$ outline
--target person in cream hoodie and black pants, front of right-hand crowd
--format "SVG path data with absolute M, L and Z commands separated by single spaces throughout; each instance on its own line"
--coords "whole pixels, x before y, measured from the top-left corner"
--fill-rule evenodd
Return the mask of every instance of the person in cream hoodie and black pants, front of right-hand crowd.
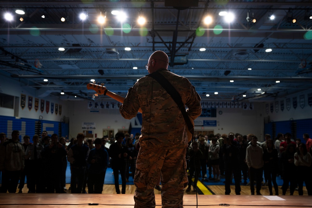
M 253 136 L 251 138 L 251 145 L 246 150 L 246 163 L 249 168 L 250 192 L 255 195 L 254 181 L 256 179 L 256 194 L 261 195 L 261 182 L 263 175 L 263 150 L 257 144 L 258 138 Z

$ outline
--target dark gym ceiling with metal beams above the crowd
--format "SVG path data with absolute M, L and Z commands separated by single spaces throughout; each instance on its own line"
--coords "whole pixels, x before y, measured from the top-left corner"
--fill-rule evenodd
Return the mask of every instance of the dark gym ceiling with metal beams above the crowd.
M 305 17 L 312 13 L 310 0 L 211 0 L 189 8 L 157 0 L 0 2 L 0 76 L 37 89 L 38 97 L 90 99 L 90 79 L 126 96 L 147 74 L 144 65 L 156 50 L 168 54 L 168 69 L 187 77 L 202 99 L 267 101 L 312 87 L 312 19 Z M 117 22 L 112 10 L 123 10 L 126 21 Z M 12 22 L 3 19 L 7 11 L 15 15 Z M 78 18 L 83 11 L 85 21 Z M 234 21 L 226 23 L 220 11 L 234 13 Z M 100 13 L 106 13 L 103 25 L 96 21 Z M 147 18 L 143 27 L 136 23 L 139 13 Z M 247 13 L 256 23 L 247 22 Z M 297 22 L 290 23 L 287 13 Z M 203 23 L 206 14 L 213 17 L 210 25 Z

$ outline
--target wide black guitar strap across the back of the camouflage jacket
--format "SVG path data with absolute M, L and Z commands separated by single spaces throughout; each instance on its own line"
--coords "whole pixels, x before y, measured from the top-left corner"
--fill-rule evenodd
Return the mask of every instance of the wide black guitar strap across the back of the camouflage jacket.
M 172 84 L 158 71 L 153 72 L 151 74 L 147 74 L 146 76 L 150 76 L 153 79 L 155 79 L 167 91 L 167 93 L 171 96 L 171 98 L 176 102 L 179 109 L 181 110 L 187 128 L 192 134 L 193 137 L 192 139 L 194 139 L 194 126 L 191 123 L 190 117 L 186 113 L 185 104 L 183 104 L 181 95 L 178 93 L 178 91 L 176 91 L 176 89 L 172 86 Z

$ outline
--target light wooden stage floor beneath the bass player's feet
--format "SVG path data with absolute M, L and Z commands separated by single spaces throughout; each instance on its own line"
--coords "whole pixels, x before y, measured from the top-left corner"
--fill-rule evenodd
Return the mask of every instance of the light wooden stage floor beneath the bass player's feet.
M 262 195 L 198 195 L 198 207 L 214 208 L 227 204 L 230 207 L 311 207 L 310 196 L 273 196 L 280 200 L 269 200 Z M 88 203 L 98 203 L 97 207 L 132 208 L 133 194 L 0 194 L 2 208 L 35 207 L 90 207 Z M 184 195 L 184 208 L 196 207 L 196 195 Z M 156 208 L 161 208 L 161 195 L 156 195 Z

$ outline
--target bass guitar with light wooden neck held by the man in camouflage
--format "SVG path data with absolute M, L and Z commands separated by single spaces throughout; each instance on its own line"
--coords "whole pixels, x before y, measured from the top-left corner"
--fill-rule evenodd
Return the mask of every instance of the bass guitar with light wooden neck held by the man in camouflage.
M 98 96 L 99 94 L 104 94 L 104 95 L 107 95 L 109 97 L 111 97 L 112 99 L 115 99 L 116 101 L 118 102 L 121 102 L 123 103 L 123 101 L 125 100 L 123 97 L 121 97 L 120 95 L 117 95 L 109 90 L 106 89 L 106 87 L 104 86 L 104 84 L 102 83 L 101 85 L 99 84 L 95 84 L 95 82 L 93 83 L 89 83 L 87 84 L 87 89 L 93 89 L 94 91 L 96 91 L 97 93 L 94 94 L 95 96 Z M 142 110 L 141 108 L 138 110 L 138 112 L 142 113 Z M 191 118 L 190 118 L 191 119 Z M 193 124 L 194 126 L 194 121 L 193 119 L 191 119 L 191 123 Z M 189 131 L 189 129 L 187 128 L 187 126 L 185 126 L 186 128 L 186 131 L 187 131 L 187 140 L 188 142 L 191 141 L 193 135 L 192 133 Z

